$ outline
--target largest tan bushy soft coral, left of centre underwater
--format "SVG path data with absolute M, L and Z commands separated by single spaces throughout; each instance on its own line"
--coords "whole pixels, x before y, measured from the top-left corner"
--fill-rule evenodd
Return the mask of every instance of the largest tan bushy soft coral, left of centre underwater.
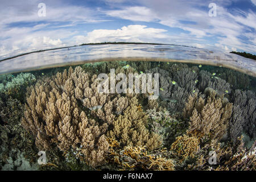
M 69 73 L 57 73 L 48 83 L 38 82 L 30 88 L 22 125 L 32 131 L 39 149 L 49 150 L 57 146 L 61 151 L 77 147 L 91 166 L 104 162 L 108 142 L 104 133 L 107 123 L 89 119 L 74 97 L 75 86 L 81 81 L 86 85 L 89 75 L 69 69 Z M 87 80 L 83 80 L 86 78 Z M 65 80 L 66 79 L 66 80 Z M 88 85 L 89 86 L 89 85 Z

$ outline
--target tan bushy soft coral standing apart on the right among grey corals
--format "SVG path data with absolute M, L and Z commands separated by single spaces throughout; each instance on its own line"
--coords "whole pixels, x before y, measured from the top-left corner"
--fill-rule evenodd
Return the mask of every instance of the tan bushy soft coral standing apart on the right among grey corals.
M 183 117 L 189 118 L 187 134 L 197 137 L 220 139 L 226 132 L 233 104 L 224 103 L 222 97 L 216 98 L 212 93 L 207 101 L 197 97 L 197 93 L 189 96 Z

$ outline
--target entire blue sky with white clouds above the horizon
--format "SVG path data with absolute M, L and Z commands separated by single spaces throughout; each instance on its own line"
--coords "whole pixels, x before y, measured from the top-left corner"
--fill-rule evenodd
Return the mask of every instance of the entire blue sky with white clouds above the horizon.
M 100 42 L 256 54 L 256 0 L 1 0 L 0 17 L 0 59 Z

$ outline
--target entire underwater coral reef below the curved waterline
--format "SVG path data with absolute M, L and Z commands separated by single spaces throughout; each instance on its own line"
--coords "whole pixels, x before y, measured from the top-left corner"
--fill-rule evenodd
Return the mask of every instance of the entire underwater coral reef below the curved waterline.
M 110 61 L 1 75 L 0 168 L 255 170 L 255 109 L 255 78 L 222 67 Z

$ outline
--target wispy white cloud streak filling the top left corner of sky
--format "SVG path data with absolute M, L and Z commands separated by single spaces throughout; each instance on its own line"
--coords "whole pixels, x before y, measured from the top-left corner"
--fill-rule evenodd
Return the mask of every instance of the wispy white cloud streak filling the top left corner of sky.
M 6 5 L 4 5 L 6 4 Z M 0 7 L 0 24 L 15 22 L 99 22 L 99 12 L 89 7 L 68 5 L 61 1 L 46 1 L 46 16 L 38 16 L 39 1 L 2 3 Z M 7 7 L 7 8 L 6 8 Z

